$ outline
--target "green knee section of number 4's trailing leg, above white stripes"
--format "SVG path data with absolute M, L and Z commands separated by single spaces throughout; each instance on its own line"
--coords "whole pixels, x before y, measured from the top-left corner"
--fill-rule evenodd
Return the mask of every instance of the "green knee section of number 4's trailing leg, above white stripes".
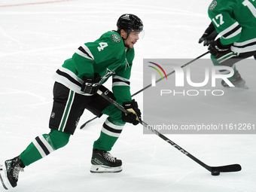
M 68 144 L 71 135 L 58 130 L 51 130 L 49 134 L 44 134 L 43 136 L 53 149 L 57 150 Z

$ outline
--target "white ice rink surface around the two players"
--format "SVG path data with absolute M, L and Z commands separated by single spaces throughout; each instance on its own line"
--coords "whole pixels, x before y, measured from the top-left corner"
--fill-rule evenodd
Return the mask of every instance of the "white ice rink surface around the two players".
M 31 5 L 32 2 L 47 3 Z M 143 87 L 143 58 L 194 59 L 206 52 L 206 47 L 197 41 L 209 25 L 210 2 L 0 0 L 0 162 L 20 154 L 35 136 L 49 132 L 51 76 L 82 43 L 116 29 L 121 14 L 133 13 L 141 17 L 145 38 L 136 44 L 131 80 L 131 91 L 135 93 Z M 19 4 L 27 5 L 6 6 Z M 237 68 L 250 89 L 230 90 L 227 98 L 221 99 L 223 108 L 216 112 L 226 113 L 225 105 L 233 112 L 237 108 L 246 111 L 249 106 L 254 119 L 256 67 L 237 64 Z M 142 108 L 142 93 L 135 99 Z M 182 102 L 182 99 L 170 102 L 169 108 L 175 108 L 170 120 L 190 118 L 191 111 L 184 109 L 187 105 L 177 107 Z M 187 103 L 190 108 L 198 108 L 202 102 L 193 98 Z M 208 107 L 211 110 L 214 105 Z M 194 122 L 204 118 L 203 115 L 207 117 L 207 113 L 200 113 L 194 117 Z M 78 126 L 91 117 L 92 114 L 85 112 Z M 123 160 L 123 172 L 91 174 L 92 145 L 104 120 L 105 117 L 94 120 L 84 130 L 78 128 L 69 145 L 26 167 L 25 172 L 20 173 L 18 186 L 11 191 L 256 190 L 255 135 L 167 135 L 210 166 L 233 163 L 242 166 L 241 172 L 214 177 L 159 137 L 142 134 L 142 126 L 126 125 L 111 151 Z M 5 190 L 0 186 L 0 191 Z

